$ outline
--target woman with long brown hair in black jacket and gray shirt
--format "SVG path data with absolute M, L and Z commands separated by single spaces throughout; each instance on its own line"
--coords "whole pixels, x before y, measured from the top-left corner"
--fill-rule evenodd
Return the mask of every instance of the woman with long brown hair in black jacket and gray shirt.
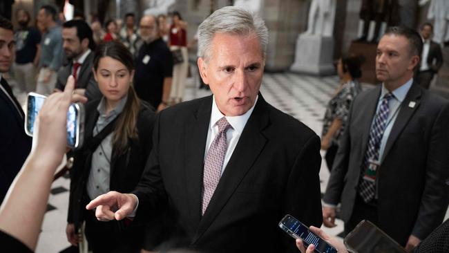
M 142 225 L 131 220 L 100 222 L 85 207 L 110 190 L 128 192 L 137 185 L 151 151 L 155 113 L 135 94 L 133 56 L 120 42 L 97 46 L 93 72 L 103 97 L 85 107 L 84 145 L 75 151 L 70 170 L 67 238 L 76 245 L 77 229 L 85 222 L 93 252 L 140 252 Z

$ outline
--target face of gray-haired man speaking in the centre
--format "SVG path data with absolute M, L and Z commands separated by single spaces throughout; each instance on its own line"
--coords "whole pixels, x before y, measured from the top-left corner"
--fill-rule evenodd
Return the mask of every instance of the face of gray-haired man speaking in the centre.
M 211 41 L 209 59 L 199 62 L 204 83 L 209 84 L 224 115 L 242 115 L 251 109 L 265 64 L 256 35 L 218 33 Z

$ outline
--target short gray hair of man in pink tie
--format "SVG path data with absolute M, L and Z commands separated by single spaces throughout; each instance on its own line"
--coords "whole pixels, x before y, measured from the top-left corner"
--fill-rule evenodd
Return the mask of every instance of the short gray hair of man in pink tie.
M 233 35 L 257 35 L 262 54 L 267 53 L 268 29 L 265 22 L 242 8 L 227 6 L 216 10 L 198 27 L 198 55 L 208 59 L 211 41 L 216 33 Z

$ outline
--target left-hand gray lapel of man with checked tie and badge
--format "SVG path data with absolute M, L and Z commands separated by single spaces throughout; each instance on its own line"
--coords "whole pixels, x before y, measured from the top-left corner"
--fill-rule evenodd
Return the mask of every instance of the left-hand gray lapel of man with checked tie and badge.
M 378 85 L 374 89 L 375 89 L 375 91 L 370 93 L 369 97 L 367 97 L 367 100 L 365 102 L 365 107 L 360 110 L 360 112 L 365 115 L 363 117 L 363 120 L 361 120 L 361 122 L 359 122 L 360 127 L 362 129 L 362 146 L 361 146 L 362 160 L 363 160 L 363 157 L 365 156 L 368 138 L 370 137 L 371 123 L 376 114 L 377 102 L 379 102 L 379 96 L 381 95 L 382 85 Z

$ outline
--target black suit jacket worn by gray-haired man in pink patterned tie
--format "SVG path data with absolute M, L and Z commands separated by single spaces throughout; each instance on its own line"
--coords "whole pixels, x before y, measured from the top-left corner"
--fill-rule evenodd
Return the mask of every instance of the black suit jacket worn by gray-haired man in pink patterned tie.
M 184 247 L 207 252 L 297 252 L 278 227 L 285 214 L 320 226 L 318 136 L 259 95 L 253 113 L 201 215 L 202 174 L 212 96 L 161 111 L 153 151 L 134 194 L 136 220 L 161 200 L 166 223 Z M 151 209 L 151 210 L 149 210 Z

